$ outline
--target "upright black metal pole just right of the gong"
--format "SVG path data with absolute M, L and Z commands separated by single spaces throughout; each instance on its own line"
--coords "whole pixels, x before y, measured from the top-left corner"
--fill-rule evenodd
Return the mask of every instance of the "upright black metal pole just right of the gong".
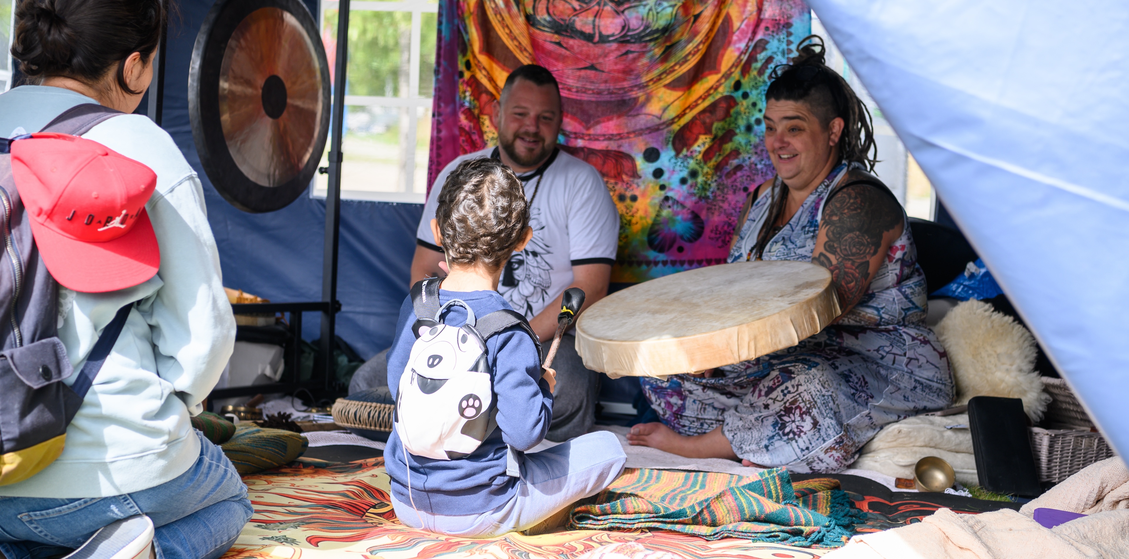
M 341 136 L 345 115 L 345 72 L 349 67 L 349 0 L 338 2 L 338 54 L 333 72 L 333 106 L 330 117 L 330 181 L 325 192 L 325 254 L 322 262 L 322 300 L 329 308 L 322 313 L 322 359 L 325 387 L 336 376 L 333 358 L 334 320 L 338 302 L 338 219 L 341 212 Z

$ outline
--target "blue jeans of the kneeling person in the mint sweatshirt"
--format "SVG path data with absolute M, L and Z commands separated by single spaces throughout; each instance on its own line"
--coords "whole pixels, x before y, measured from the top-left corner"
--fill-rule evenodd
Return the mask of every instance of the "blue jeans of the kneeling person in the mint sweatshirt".
M 116 497 L 0 497 L 0 552 L 42 559 L 70 552 L 98 529 L 138 514 L 157 527 L 157 559 L 215 559 L 251 518 L 247 486 L 200 431 L 200 457 L 173 481 Z

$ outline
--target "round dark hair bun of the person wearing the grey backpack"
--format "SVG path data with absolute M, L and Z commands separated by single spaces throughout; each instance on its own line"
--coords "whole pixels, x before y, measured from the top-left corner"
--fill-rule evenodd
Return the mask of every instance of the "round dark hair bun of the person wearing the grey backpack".
M 58 11 L 55 0 L 24 0 L 16 9 L 11 54 L 28 76 L 53 73 L 70 65 L 79 37 Z

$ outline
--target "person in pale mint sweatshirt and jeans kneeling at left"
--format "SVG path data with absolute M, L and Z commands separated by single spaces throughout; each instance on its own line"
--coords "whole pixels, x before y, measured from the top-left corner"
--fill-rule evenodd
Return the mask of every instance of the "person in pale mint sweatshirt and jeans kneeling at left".
M 8 559 L 218 558 L 251 517 L 235 468 L 189 421 L 235 343 L 203 191 L 173 139 L 129 114 L 152 79 L 166 19 L 163 0 L 23 0 L 16 9 L 11 54 L 37 85 L 0 95 L 0 137 L 37 132 L 82 104 L 125 113 L 84 138 L 156 174 L 145 209 L 160 263 L 125 289 L 60 286 L 59 338 L 76 372 L 117 309 L 137 304 L 67 429 L 62 455 L 0 486 L 0 553 Z M 75 187 L 98 196 L 98 184 Z

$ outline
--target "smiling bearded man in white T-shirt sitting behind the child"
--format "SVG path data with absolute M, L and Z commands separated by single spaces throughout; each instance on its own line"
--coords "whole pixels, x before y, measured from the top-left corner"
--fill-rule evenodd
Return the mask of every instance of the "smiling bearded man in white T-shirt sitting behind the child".
M 525 315 L 548 349 L 566 289 L 584 289 L 584 308 L 607 295 L 620 216 L 595 167 L 557 148 L 561 97 L 549 70 L 536 64 L 514 70 L 492 119 L 498 146 L 456 158 L 436 177 L 415 234 L 418 246 L 410 283 L 446 276 L 443 248 L 431 233 L 431 220 L 447 175 L 466 159 L 500 159 L 525 185 L 533 238 L 505 264 L 498 291 Z M 595 421 L 599 376 L 584 367 L 575 346 L 572 334 L 566 334 L 553 361 L 557 391 L 550 440 L 584 435 Z M 378 355 L 357 372 L 350 393 L 384 384 L 382 357 Z

